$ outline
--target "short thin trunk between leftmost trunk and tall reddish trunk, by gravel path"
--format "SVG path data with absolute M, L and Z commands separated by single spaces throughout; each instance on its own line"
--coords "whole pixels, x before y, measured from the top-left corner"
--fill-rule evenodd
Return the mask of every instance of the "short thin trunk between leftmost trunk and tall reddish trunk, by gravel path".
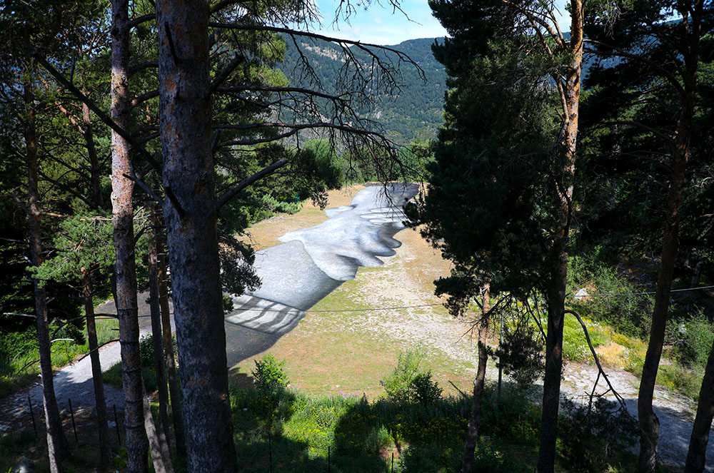
M 106 424 L 106 400 L 104 398 L 104 382 L 102 382 L 101 362 L 99 361 L 99 343 L 96 340 L 96 325 L 94 324 L 94 301 L 92 300 L 91 280 L 89 271 L 82 268 L 82 295 L 84 297 L 84 313 L 87 317 L 87 341 L 89 342 L 89 360 L 91 360 L 91 377 L 94 383 L 94 404 L 96 405 L 96 427 L 99 437 L 99 464 L 106 467 L 111 461 L 109 448 L 109 429 Z

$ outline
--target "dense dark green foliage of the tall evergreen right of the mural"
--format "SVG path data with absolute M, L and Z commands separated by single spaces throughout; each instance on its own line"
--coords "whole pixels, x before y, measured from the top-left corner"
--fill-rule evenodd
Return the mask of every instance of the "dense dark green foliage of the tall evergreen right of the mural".
M 524 299 L 550 287 L 558 253 L 553 90 L 521 56 L 529 48 L 519 41 L 528 39 L 489 41 L 498 19 L 486 6 L 468 16 L 451 2 L 432 6 L 458 37 L 433 48 L 449 74 L 446 123 L 426 196 L 406 208 L 410 226 L 423 225 L 421 234 L 454 263 L 444 293 L 469 300 L 489 282 L 493 295 Z

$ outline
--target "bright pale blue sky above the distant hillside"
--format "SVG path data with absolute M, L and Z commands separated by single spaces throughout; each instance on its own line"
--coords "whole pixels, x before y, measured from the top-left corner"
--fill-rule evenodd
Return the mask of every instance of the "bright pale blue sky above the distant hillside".
M 372 1 L 368 9 L 356 6 L 366 1 L 354 1 L 356 14 L 350 17 L 349 23 L 339 21 L 335 26 L 331 22 L 335 16 L 338 0 L 315 0 L 324 18 L 321 31 L 329 36 L 338 36 L 344 39 L 363 41 L 374 44 L 399 44 L 406 39 L 435 38 L 446 36 L 446 30 L 431 16 L 431 9 L 426 0 L 402 0 L 401 8 L 408 15 L 408 19 L 400 11 L 392 13 L 388 0 L 381 0 L 383 6 Z M 561 6 L 564 0 L 556 0 Z M 562 14 L 569 17 L 565 9 L 560 8 Z M 560 28 L 563 31 L 570 29 L 570 21 L 560 19 Z

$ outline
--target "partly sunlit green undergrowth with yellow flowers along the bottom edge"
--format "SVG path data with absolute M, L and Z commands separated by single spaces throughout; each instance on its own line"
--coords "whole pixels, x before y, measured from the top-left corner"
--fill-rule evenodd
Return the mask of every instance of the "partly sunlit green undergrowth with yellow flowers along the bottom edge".
M 490 397 L 487 397 L 489 402 Z M 271 396 L 254 390 L 231 390 L 233 425 L 241 471 L 388 472 L 392 454 L 398 472 L 454 471 L 461 462 L 470 402 L 446 397 L 431 405 L 368 400 L 361 395 L 313 396 L 288 391 Z M 476 471 L 526 472 L 508 451 L 537 449 L 540 413 L 518 395 L 501 407 L 484 407 L 483 432 Z M 512 422 L 516 416 L 517 422 Z M 488 425 L 486 425 L 488 422 Z M 524 436 L 523 424 L 528 424 Z M 277 469 L 276 469 L 277 471 Z

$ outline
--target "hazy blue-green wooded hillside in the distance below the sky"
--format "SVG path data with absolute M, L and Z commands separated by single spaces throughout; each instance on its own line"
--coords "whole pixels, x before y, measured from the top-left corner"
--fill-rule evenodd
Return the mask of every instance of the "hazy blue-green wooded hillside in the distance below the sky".
M 363 111 L 369 118 L 381 123 L 386 134 L 398 143 L 407 144 L 416 138 L 434 138 L 443 123 L 443 103 L 446 92 L 446 73 L 441 63 L 431 54 L 431 45 L 438 39 L 410 39 L 396 46 L 390 46 L 407 54 L 422 69 L 426 82 L 419 77 L 416 67 L 401 64 L 401 91 L 397 96 L 378 97 L 376 110 Z M 332 92 L 343 63 L 343 51 L 326 41 L 299 39 L 303 54 L 313 64 L 326 91 Z M 296 69 L 298 51 L 292 41 L 286 41 L 286 61 L 281 70 L 294 86 L 309 87 L 307 79 Z M 354 50 L 354 49 L 353 49 Z M 363 51 L 356 56 L 368 61 Z

